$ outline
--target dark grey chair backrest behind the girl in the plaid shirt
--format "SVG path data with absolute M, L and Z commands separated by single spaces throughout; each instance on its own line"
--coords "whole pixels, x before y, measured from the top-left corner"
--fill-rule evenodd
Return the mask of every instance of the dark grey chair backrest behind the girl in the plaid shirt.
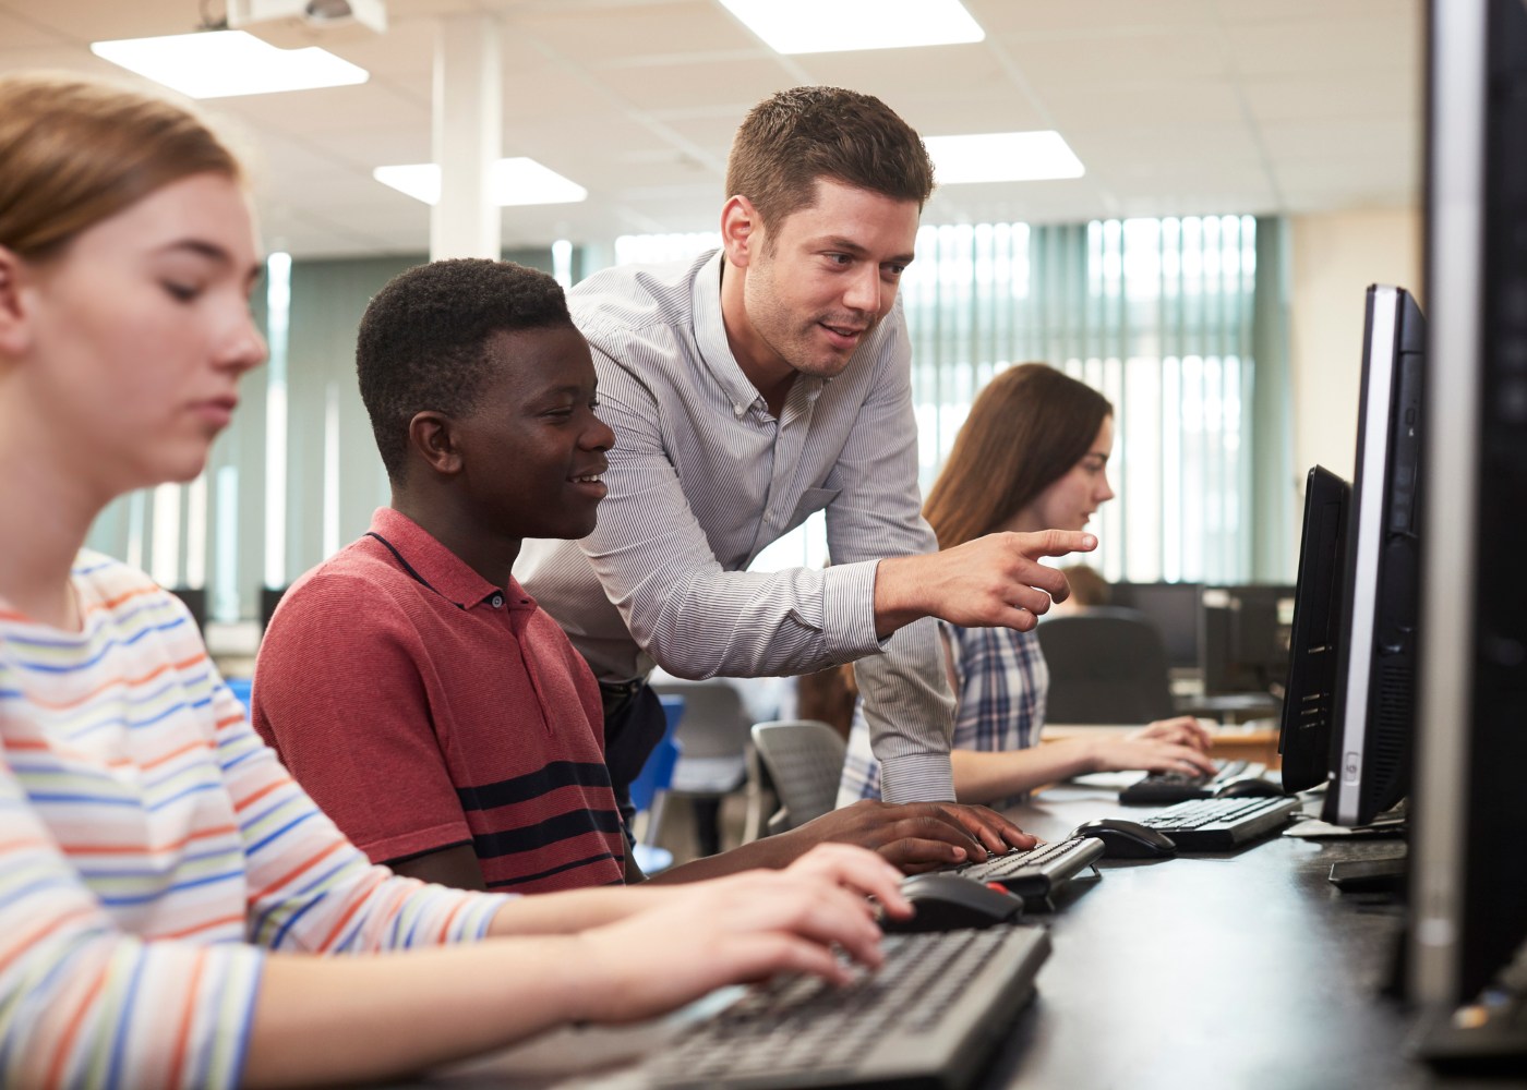
M 1099 606 L 1040 621 L 1052 724 L 1145 724 L 1173 714 L 1167 643 L 1135 609 Z

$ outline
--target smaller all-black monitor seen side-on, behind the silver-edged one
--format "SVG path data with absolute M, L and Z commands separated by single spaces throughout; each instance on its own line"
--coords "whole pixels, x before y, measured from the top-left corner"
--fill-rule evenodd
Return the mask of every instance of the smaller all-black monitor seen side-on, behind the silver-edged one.
M 1325 783 L 1336 713 L 1342 566 L 1351 487 L 1324 466 L 1304 489 L 1299 583 L 1293 597 L 1289 685 L 1283 701 L 1283 786 L 1309 791 Z

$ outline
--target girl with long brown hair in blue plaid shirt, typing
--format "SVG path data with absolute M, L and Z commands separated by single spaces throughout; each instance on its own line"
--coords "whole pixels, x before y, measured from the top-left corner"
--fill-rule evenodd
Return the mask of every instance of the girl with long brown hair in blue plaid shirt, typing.
M 939 548 L 999 531 L 1083 530 L 1113 499 L 1113 406 L 1044 363 L 993 379 L 970 409 L 922 514 Z M 1190 716 L 1128 736 L 1037 747 L 1049 672 L 1034 632 L 941 621 L 956 714 L 950 762 L 960 801 L 1008 806 L 1083 772 L 1150 769 L 1214 774 L 1208 731 Z M 849 731 L 838 805 L 880 797 L 880 765 L 863 714 Z

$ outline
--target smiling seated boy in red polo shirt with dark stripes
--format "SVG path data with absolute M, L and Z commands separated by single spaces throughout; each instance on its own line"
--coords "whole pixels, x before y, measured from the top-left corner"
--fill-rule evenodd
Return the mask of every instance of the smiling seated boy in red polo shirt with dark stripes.
M 356 366 L 392 504 L 282 597 L 255 727 L 397 872 L 510 892 L 640 876 L 599 685 L 510 574 L 522 539 L 586 536 L 605 495 L 614 434 L 562 289 L 512 263 L 418 266 L 371 301 Z M 664 878 L 783 866 L 823 840 L 912 869 L 1032 846 L 980 808 L 860 803 Z

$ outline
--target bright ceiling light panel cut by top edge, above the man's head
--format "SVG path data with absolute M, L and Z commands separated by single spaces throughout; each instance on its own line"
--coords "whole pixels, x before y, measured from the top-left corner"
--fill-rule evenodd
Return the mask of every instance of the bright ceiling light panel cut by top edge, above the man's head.
M 837 53 L 980 41 L 959 0 L 721 0 L 780 53 Z

